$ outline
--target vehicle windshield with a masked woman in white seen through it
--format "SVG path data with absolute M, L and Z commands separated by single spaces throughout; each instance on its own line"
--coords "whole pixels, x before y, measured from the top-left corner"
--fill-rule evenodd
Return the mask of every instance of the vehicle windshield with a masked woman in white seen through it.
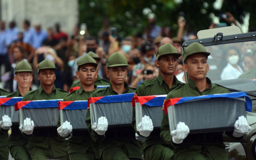
M 255 42 L 249 41 L 205 46 L 207 51 L 211 53 L 207 61 L 209 65 L 207 77 L 212 81 L 238 78 L 247 78 L 255 81 Z

